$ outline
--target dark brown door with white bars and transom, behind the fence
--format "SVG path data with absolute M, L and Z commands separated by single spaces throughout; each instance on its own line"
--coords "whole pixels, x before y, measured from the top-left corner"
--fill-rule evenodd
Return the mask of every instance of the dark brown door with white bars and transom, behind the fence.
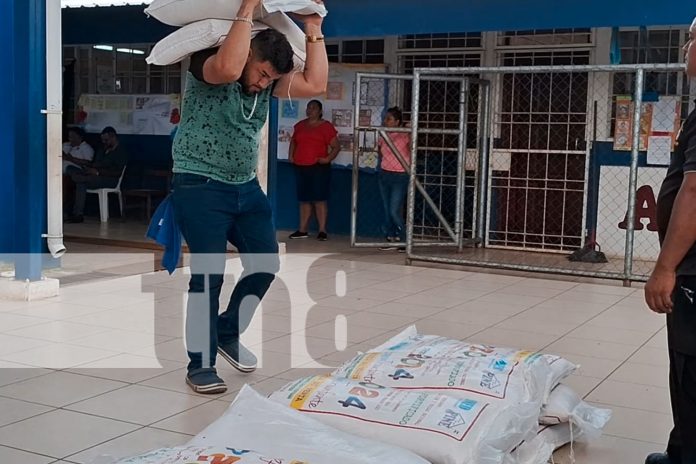
M 516 67 L 587 65 L 590 50 L 503 49 L 500 61 Z M 581 245 L 588 84 L 586 72 L 500 76 L 494 97 L 491 246 L 569 251 Z

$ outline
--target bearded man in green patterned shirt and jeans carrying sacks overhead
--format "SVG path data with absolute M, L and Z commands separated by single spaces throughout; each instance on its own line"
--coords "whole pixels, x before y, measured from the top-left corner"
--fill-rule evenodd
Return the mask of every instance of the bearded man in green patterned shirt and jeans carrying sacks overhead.
M 198 393 L 227 388 L 215 370 L 217 353 L 242 372 L 256 369 L 239 338 L 279 267 L 271 207 L 256 179 L 271 96 L 320 95 L 328 79 L 322 18 L 298 16 L 307 36 L 306 67 L 292 72 L 293 51 L 283 34 L 268 29 L 251 39 L 260 7 L 261 0 L 244 0 L 222 45 L 191 56 L 172 147 L 171 201 L 191 251 L 186 382 Z M 218 316 L 228 241 L 239 250 L 244 273 Z

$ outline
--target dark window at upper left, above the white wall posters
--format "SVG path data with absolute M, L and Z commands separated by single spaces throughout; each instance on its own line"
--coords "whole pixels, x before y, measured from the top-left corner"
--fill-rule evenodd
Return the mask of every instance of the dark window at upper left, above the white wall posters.
M 149 44 L 98 44 L 63 47 L 72 72 L 66 82 L 65 105 L 74 113 L 83 93 L 170 94 L 181 93 L 181 63 L 152 66 L 145 62 Z M 68 119 L 73 120 L 73 119 Z

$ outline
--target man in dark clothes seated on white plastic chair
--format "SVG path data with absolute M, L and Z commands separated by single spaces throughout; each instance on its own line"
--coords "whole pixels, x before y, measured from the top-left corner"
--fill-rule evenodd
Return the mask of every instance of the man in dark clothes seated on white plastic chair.
M 104 148 L 97 152 L 94 162 L 82 170 L 70 173 L 75 183 L 75 205 L 72 215 L 66 221 L 68 223 L 84 222 L 87 190 L 116 187 L 123 168 L 128 162 L 128 153 L 119 143 L 118 135 L 113 127 L 104 128 L 101 140 Z

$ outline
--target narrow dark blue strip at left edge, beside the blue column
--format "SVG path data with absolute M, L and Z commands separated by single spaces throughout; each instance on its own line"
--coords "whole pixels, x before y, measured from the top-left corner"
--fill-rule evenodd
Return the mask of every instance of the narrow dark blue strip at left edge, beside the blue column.
M 7 102 L 0 111 L 0 261 L 14 251 L 14 9 L 12 2 L 0 2 L 0 92 Z

